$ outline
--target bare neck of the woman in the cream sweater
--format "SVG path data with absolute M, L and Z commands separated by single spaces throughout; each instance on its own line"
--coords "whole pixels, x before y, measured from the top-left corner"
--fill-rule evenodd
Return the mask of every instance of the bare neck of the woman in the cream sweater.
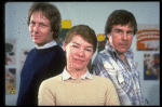
M 79 79 L 81 76 L 83 76 L 86 72 L 86 68 L 84 69 L 75 69 L 67 67 L 67 71 L 71 75 L 72 78 Z

